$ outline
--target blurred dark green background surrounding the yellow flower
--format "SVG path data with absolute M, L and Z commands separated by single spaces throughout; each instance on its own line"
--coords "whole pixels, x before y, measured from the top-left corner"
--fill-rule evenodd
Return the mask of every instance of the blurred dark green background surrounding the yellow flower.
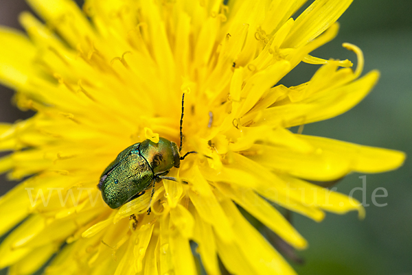
M 23 0 L 0 0 L 0 25 L 19 27 L 17 15 L 29 8 Z M 381 73 L 374 91 L 345 114 L 305 125 L 304 134 L 326 136 L 363 145 L 386 147 L 412 156 L 412 1 L 355 0 L 339 23 L 339 36 L 317 49 L 313 56 L 348 58 L 356 65 L 354 53 L 341 47 L 348 42 L 365 54 L 364 74 L 372 69 Z M 318 66 L 301 64 L 282 80 L 293 86 L 310 80 Z M 0 87 L 0 121 L 13 122 L 31 114 L 10 104 L 12 91 Z M 293 215 L 293 224 L 306 237 L 309 248 L 301 255 L 305 263 L 294 265 L 298 274 L 412 275 L 412 162 L 397 171 L 367 175 L 366 207 L 363 221 L 357 213 L 328 214 L 321 223 Z M 362 174 L 351 174 L 336 185 L 349 194 L 362 187 Z M 0 178 L 0 195 L 16 184 Z M 371 195 L 383 187 L 387 198 Z M 378 192 L 381 194 L 382 191 Z M 361 191 L 354 197 L 362 201 Z M 0 214 L 1 215 L 1 214 Z M 1 239 L 0 239 L 1 241 Z M 6 274 L 1 270 L 0 275 Z

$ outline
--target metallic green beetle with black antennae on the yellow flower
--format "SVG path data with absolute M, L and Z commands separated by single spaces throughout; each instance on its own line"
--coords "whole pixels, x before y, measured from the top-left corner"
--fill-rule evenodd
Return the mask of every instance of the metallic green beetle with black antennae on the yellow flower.
M 104 169 L 98 188 L 102 191 L 104 202 L 111 208 L 118 208 L 126 202 L 143 195 L 144 190 L 152 185 L 152 194 L 155 193 L 155 182 L 165 179 L 174 180 L 176 178 L 166 177 L 172 167 L 179 168 L 180 161 L 188 154 L 180 156 L 182 148 L 182 123 L 183 123 L 183 100 L 181 114 L 181 145 L 179 150 L 176 143 L 168 139 L 160 138 L 159 143 L 154 143 L 146 139 L 141 143 L 135 143 L 120 152 L 113 162 Z M 150 213 L 150 208 L 148 210 Z

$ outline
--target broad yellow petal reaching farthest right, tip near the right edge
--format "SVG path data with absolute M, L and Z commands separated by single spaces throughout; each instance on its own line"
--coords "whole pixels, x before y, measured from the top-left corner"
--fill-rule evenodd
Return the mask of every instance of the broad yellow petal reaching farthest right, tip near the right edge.
M 314 150 L 297 152 L 282 147 L 254 145 L 256 154 L 249 158 L 265 167 L 297 178 L 328 181 L 342 178 L 351 171 L 377 173 L 402 165 L 402 152 L 373 148 L 316 136 L 299 136 Z

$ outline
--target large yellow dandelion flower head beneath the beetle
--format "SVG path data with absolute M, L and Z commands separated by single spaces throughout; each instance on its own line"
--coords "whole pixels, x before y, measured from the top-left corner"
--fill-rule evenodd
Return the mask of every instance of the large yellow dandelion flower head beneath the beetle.
M 28 36 L 1 28 L 0 81 L 34 117 L 0 125 L 0 171 L 25 178 L 0 199 L 0 268 L 31 274 L 295 274 L 240 213 L 290 246 L 307 243 L 273 203 L 316 221 L 364 209 L 308 180 L 396 169 L 402 152 L 288 128 L 356 105 L 378 80 L 309 53 L 338 32 L 351 0 L 28 0 Z M 299 62 L 309 82 L 277 84 Z M 97 184 L 119 152 L 159 136 L 196 151 L 143 195 L 109 208 Z M 302 195 L 304 194 L 304 195 Z M 146 212 L 151 207 L 151 213 Z M 219 260 L 220 259 L 220 260 Z

